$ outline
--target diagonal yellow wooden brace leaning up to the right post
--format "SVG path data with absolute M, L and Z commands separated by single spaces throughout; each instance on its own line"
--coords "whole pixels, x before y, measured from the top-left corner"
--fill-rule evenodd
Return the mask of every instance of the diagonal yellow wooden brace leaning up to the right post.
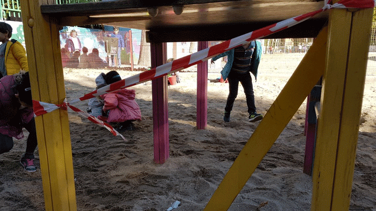
M 325 27 L 239 153 L 204 211 L 227 211 L 325 69 Z

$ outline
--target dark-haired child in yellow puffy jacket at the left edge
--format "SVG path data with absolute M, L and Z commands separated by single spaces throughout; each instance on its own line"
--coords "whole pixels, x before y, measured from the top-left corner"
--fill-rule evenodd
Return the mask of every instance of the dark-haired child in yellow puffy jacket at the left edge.
M 0 22 L 0 78 L 7 75 L 13 75 L 20 70 L 28 71 L 26 50 L 22 44 L 12 37 L 12 27 Z

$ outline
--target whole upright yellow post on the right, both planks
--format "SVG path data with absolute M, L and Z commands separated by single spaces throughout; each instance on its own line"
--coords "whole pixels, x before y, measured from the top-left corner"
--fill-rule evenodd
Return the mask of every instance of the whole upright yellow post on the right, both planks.
M 329 15 L 312 211 L 349 209 L 373 9 Z

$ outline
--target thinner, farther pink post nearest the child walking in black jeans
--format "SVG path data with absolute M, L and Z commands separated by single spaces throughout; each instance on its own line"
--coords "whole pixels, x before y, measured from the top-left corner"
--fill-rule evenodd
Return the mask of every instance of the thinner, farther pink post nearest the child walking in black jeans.
M 197 50 L 208 47 L 208 42 L 198 42 Z M 208 109 L 208 61 L 197 64 L 197 129 L 205 129 Z

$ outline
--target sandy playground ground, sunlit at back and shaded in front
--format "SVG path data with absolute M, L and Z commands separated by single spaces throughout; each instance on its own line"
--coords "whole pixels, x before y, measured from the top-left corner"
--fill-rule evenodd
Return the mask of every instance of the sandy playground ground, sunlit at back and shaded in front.
M 93 90 L 94 79 L 109 70 L 64 69 L 68 102 Z M 124 79 L 140 72 L 119 71 Z M 182 83 L 168 87 L 170 158 L 153 163 L 151 82 L 139 84 L 142 121 L 113 136 L 68 110 L 78 211 L 203 210 L 259 123 L 247 122 L 243 89 L 231 122 L 222 120 L 228 84 L 209 73 L 208 121 L 196 129 L 196 73 L 180 73 Z M 254 83 L 256 106 L 265 114 L 289 75 L 260 73 Z M 254 81 L 253 81 L 254 82 Z M 376 211 L 376 78 L 367 77 L 352 186 L 351 211 Z M 87 101 L 75 104 L 86 110 Z M 236 197 L 229 211 L 309 211 L 312 178 L 303 173 L 305 102 L 283 130 Z M 0 211 L 44 211 L 41 169 L 26 172 L 18 161 L 26 139 L 0 155 Z M 36 163 L 40 166 L 39 154 Z M 261 204 L 268 202 L 264 207 Z M 174 210 L 174 211 L 175 211 Z

